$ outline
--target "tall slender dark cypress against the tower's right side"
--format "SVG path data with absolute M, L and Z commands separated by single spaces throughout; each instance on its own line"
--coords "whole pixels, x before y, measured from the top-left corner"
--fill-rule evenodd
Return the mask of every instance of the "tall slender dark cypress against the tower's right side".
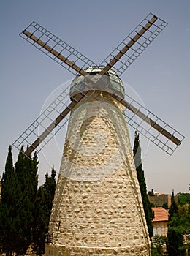
M 134 134 L 133 154 L 134 154 L 134 164 L 137 170 L 137 178 L 140 184 L 142 203 L 145 211 L 145 219 L 148 226 L 148 233 L 151 238 L 153 236 L 152 220 L 153 220 L 154 214 L 151 208 L 151 203 L 148 200 L 148 193 L 147 193 L 146 183 L 145 183 L 145 174 L 144 174 L 144 171 L 142 170 L 140 140 L 139 140 L 139 134 L 137 132 L 135 132 Z

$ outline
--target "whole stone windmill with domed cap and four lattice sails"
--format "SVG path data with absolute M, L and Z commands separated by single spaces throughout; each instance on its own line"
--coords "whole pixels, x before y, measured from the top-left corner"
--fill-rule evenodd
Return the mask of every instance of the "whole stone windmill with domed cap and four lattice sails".
M 125 94 L 120 76 L 165 26 L 150 13 L 99 65 L 35 22 L 20 34 L 75 75 L 13 143 L 29 156 L 68 121 L 45 255 L 151 255 L 127 123 L 167 154 L 184 137 Z

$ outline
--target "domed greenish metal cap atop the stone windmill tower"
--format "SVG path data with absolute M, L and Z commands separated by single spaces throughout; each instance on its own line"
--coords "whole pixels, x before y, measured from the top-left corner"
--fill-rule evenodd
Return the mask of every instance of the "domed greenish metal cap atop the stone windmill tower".
M 118 75 L 110 69 L 106 72 L 102 77 L 98 77 L 99 72 L 104 69 L 104 66 L 95 66 L 95 67 L 88 67 L 85 69 L 85 72 L 88 73 L 92 78 L 99 79 L 96 83 L 91 83 L 88 79 L 86 79 L 83 75 L 77 75 L 73 80 L 70 87 L 70 97 L 74 97 L 76 94 L 80 92 L 86 92 L 91 90 L 96 91 L 106 91 L 109 94 L 114 94 L 121 98 L 124 98 L 124 87 L 122 80 L 118 77 Z

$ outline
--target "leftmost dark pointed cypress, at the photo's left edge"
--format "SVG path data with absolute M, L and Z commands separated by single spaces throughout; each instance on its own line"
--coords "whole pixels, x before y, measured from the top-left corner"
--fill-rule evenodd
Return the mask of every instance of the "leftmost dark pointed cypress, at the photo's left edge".
M 12 161 L 12 147 L 9 146 L 5 170 L 1 180 L 1 201 L 0 201 L 0 244 L 1 250 L 7 256 L 12 255 L 18 244 L 18 219 L 17 210 L 20 208 L 21 190 Z

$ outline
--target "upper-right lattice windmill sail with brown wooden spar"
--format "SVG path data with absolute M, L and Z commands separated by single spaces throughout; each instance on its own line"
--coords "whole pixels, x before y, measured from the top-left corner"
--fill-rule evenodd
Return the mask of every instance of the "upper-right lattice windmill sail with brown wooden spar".
M 104 71 L 113 69 L 118 76 L 137 59 L 167 26 L 164 20 L 149 13 L 145 19 L 110 53 L 100 66 Z

